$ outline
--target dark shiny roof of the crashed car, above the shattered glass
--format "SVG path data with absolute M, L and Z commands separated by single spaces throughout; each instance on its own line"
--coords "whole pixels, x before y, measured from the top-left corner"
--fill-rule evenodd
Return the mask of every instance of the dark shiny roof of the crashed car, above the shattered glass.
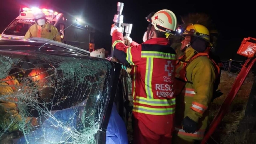
M 90 51 L 80 49 L 65 43 L 45 38 L 33 37 L 29 39 L 2 39 L 0 50 L 12 51 L 62 51 L 62 53 L 77 53 L 90 56 Z

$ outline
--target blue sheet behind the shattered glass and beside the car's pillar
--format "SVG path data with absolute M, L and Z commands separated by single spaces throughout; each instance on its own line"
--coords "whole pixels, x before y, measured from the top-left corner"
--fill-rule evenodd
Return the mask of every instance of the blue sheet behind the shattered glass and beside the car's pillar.
M 77 111 L 84 110 L 84 107 L 72 107 L 64 110 L 51 111 L 54 118 L 50 117 L 44 120 L 42 126 L 29 134 L 26 138 L 23 136 L 19 140 L 15 140 L 16 144 L 46 144 L 72 142 L 70 135 L 72 131 L 77 129 Z M 59 125 L 65 126 L 63 128 Z M 93 136 L 92 136 L 93 138 Z M 110 120 L 106 132 L 106 144 L 128 144 L 128 137 L 124 121 L 119 116 L 116 105 L 113 105 Z

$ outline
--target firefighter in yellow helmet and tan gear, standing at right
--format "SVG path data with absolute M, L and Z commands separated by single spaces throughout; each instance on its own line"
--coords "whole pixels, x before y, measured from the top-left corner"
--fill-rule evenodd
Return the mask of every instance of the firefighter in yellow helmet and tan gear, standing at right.
M 210 59 L 211 46 L 206 27 L 191 24 L 182 34 L 181 51 L 176 63 L 175 95 L 176 120 L 174 144 L 194 144 L 202 140 L 208 123 L 208 107 L 212 101 L 214 85 L 220 69 Z

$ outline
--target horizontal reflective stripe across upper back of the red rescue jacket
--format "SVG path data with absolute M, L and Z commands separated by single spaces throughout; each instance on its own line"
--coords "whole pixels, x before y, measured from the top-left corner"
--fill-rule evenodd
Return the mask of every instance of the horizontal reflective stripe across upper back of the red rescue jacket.
M 176 59 L 176 54 L 163 53 L 158 51 L 142 51 L 141 57 L 160 58 L 160 59 Z

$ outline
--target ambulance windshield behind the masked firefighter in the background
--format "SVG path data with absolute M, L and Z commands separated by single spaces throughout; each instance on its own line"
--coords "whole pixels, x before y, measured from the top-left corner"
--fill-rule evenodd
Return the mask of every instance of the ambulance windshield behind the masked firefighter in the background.
M 54 25 L 54 21 L 49 21 L 50 24 Z M 12 36 L 25 36 L 26 32 L 28 32 L 28 29 L 30 26 L 35 24 L 34 19 L 16 19 L 8 26 L 8 28 L 4 31 L 4 34 L 6 35 L 12 35 Z

